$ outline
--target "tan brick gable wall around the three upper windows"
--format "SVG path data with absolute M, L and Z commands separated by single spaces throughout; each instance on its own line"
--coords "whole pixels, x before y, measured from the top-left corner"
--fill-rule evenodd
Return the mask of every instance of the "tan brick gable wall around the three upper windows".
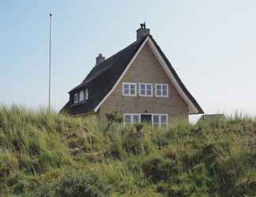
M 122 95 L 122 82 L 137 83 L 137 96 Z M 138 83 L 152 83 L 153 96 L 139 96 Z M 155 96 L 155 84 L 168 84 L 168 98 Z M 176 91 L 164 69 L 152 53 L 148 44 L 135 58 L 130 69 L 122 77 L 115 90 L 100 106 L 100 113 L 168 113 L 169 122 L 176 119 L 188 120 L 188 106 Z

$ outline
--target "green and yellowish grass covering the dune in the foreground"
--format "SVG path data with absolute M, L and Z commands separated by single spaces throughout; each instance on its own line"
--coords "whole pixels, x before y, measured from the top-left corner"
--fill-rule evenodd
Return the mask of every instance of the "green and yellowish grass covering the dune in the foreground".
M 256 120 L 123 127 L 0 107 L 0 196 L 256 195 Z

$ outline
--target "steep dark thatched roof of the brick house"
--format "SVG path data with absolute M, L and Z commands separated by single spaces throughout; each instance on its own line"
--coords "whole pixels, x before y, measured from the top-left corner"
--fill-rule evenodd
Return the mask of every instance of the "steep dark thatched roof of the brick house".
M 73 95 L 74 92 L 80 91 L 81 89 L 88 87 L 89 99 L 85 102 L 79 102 L 72 104 L 71 102 L 66 103 L 62 111 L 66 110 L 70 114 L 90 113 L 96 112 L 100 109 L 101 104 L 107 99 L 107 96 L 111 94 L 111 91 L 115 89 L 115 86 L 121 80 L 122 76 L 128 69 L 131 62 L 136 57 L 136 54 L 150 40 L 156 46 L 156 49 L 163 58 L 165 64 L 168 66 L 172 76 L 177 81 L 178 86 L 181 88 L 182 93 L 185 95 L 186 102 L 188 101 L 189 106 L 192 105 L 195 110 L 192 113 L 203 113 L 198 102 L 186 89 L 183 82 L 175 72 L 175 69 L 171 66 L 168 58 L 164 55 L 164 52 L 157 45 L 156 41 L 152 38 L 152 35 L 146 35 L 145 37 L 137 40 L 130 44 L 123 50 L 120 50 L 117 54 L 114 54 L 110 58 L 96 65 L 85 80 L 82 81 L 77 87 L 74 87 L 69 93 Z M 192 104 L 191 104 L 192 103 Z M 190 113 L 191 114 L 191 113 Z

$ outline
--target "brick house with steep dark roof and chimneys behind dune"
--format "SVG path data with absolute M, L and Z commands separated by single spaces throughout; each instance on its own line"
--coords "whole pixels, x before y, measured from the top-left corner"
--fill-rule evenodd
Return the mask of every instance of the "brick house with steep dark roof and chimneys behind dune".
M 137 29 L 134 43 L 107 59 L 99 54 L 95 67 L 69 94 L 62 111 L 71 115 L 117 111 L 126 125 L 148 121 L 162 127 L 203 113 L 145 24 Z

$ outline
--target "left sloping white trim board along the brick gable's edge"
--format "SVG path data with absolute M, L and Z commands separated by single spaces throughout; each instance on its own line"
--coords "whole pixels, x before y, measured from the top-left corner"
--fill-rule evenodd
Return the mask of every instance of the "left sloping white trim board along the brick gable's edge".
M 141 46 L 139 47 L 139 49 L 137 50 L 136 54 L 134 54 L 134 57 L 130 60 L 129 64 L 126 66 L 126 69 L 122 72 L 122 75 L 119 77 L 119 80 L 117 80 L 115 82 L 115 85 L 111 88 L 111 91 L 109 91 L 107 93 L 107 95 L 104 97 L 104 99 L 102 99 L 102 101 L 96 106 L 96 108 L 94 109 L 95 112 L 97 112 L 97 110 L 99 110 L 100 106 L 102 105 L 102 103 L 107 99 L 107 97 L 109 95 L 111 95 L 111 93 L 115 90 L 115 87 L 117 87 L 117 85 L 119 84 L 119 82 L 122 80 L 122 77 L 126 74 L 127 70 L 130 69 L 130 66 L 133 64 L 135 58 L 137 58 L 137 55 L 141 52 L 141 50 L 143 49 L 143 46 L 145 46 L 145 43 L 147 43 L 149 40 L 149 36 L 145 39 L 145 41 L 141 44 Z

